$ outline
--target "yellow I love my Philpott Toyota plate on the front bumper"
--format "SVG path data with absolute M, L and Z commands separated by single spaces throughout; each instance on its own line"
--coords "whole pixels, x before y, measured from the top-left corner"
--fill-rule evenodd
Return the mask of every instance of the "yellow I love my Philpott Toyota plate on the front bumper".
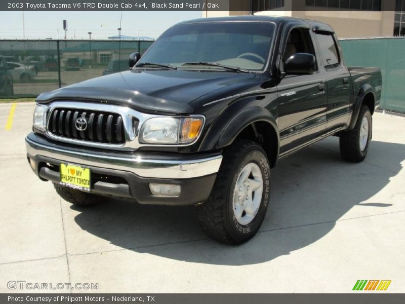
M 90 168 L 60 164 L 60 183 L 74 189 L 90 191 Z

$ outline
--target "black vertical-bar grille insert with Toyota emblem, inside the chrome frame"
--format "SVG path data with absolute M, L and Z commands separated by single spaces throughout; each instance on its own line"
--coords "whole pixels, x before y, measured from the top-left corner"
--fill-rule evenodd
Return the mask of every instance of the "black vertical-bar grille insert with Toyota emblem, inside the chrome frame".
M 108 111 L 56 107 L 48 117 L 48 132 L 94 143 L 125 143 L 123 118 Z

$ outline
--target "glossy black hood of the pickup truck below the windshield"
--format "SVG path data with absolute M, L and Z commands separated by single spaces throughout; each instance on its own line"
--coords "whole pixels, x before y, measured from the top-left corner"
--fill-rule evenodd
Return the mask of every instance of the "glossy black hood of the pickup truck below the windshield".
M 87 80 L 38 96 L 37 102 L 55 99 L 109 101 L 159 113 L 192 113 L 207 102 L 204 95 L 230 87 L 244 87 L 256 74 L 189 70 L 130 70 Z M 242 88 L 240 88 L 242 89 Z M 215 94 L 214 94 L 215 95 Z

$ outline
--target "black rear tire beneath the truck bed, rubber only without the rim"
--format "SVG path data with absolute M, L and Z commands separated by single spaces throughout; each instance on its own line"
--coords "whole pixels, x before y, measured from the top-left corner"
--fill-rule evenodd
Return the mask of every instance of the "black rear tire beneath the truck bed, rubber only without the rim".
M 360 128 L 363 118 L 368 120 L 369 123 L 369 134 L 367 138 L 367 144 L 365 149 L 360 149 Z M 340 154 L 345 161 L 359 163 L 363 161 L 369 150 L 370 140 L 373 133 L 373 120 L 371 117 L 370 108 L 367 105 L 362 105 L 360 112 L 358 113 L 358 118 L 356 125 L 353 130 L 344 132 L 340 135 L 339 145 Z

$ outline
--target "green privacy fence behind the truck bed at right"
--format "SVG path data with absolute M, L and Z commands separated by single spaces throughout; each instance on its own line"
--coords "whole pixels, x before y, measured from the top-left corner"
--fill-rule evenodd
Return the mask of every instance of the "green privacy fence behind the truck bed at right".
M 380 108 L 405 112 L 405 38 L 341 40 L 348 66 L 377 66 L 382 73 Z

